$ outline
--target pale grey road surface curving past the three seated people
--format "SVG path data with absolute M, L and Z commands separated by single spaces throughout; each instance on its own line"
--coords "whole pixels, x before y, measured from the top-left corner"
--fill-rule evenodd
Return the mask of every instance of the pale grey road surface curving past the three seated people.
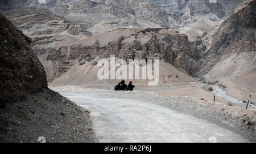
M 249 142 L 214 123 L 148 101 L 154 93 L 52 89 L 90 109 L 98 142 Z

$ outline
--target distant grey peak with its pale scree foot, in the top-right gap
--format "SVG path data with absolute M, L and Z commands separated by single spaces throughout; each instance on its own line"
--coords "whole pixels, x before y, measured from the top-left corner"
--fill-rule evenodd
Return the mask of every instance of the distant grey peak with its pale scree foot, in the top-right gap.
M 213 32 L 228 16 L 232 15 L 237 5 L 243 0 L 151 0 L 167 12 L 177 14 L 184 23 L 180 33 L 195 40 L 205 33 Z

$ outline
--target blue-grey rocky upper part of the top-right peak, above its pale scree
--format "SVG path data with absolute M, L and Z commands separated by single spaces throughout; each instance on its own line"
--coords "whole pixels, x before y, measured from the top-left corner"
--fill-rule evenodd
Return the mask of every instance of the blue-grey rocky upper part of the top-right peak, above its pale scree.
M 208 16 L 209 20 L 223 20 L 235 10 L 242 0 L 213 1 L 213 0 L 151 0 L 171 13 L 179 14 L 186 25 L 196 23 L 201 16 Z

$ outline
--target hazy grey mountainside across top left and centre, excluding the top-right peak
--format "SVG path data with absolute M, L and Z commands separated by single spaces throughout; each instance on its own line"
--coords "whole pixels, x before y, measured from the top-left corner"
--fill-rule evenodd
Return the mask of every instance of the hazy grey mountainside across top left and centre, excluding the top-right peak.
M 109 32 L 118 28 L 178 28 L 182 25 L 180 18 L 154 5 L 150 0 L 108 0 L 108 1 L 19 1 L 2 2 L 2 11 L 10 8 L 47 8 L 58 16 L 63 16 L 73 24 L 82 24 L 94 34 Z M 4 13 L 6 15 L 6 13 Z

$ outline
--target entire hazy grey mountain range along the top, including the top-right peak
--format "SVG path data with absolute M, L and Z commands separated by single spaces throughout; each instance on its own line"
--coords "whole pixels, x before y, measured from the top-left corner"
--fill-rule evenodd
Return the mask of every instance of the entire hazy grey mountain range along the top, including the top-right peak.
M 0 11 L 13 8 L 46 8 L 73 24 L 98 34 L 118 28 L 180 28 L 192 36 L 214 31 L 243 0 L 16 0 L 2 1 Z M 6 14 L 5 14 L 6 15 Z M 188 29 L 189 28 L 189 29 Z

